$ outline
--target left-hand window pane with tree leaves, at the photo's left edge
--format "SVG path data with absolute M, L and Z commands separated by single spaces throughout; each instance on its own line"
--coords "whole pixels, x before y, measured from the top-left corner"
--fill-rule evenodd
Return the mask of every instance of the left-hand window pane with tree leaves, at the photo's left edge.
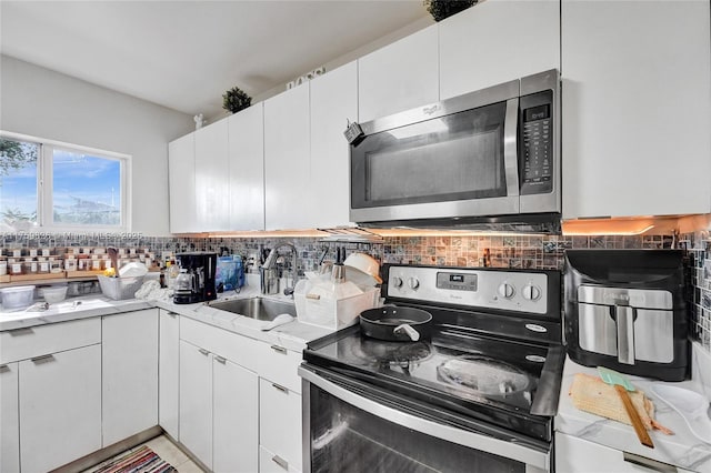
M 37 223 L 37 158 L 40 145 L 0 138 L 0 229 Z

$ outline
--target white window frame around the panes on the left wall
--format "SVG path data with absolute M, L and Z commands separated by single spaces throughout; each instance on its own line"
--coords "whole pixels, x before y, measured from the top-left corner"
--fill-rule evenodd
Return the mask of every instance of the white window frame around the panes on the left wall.
M 51 232 L 130 232 L 131 231 L 131 155 L 97 148 L 82 147 L 57 140 L 44 140 L 27 134 L 0 131 L 0 137 L 8 140 L 26 141 L 40 145 L 37 157 L 37 229 Z M 121 222 L 118 225 L 67 224 L 54 223 L 52 162 L 54 150 L 91 154 L 96 158 L 117 160 L 121 164 Z

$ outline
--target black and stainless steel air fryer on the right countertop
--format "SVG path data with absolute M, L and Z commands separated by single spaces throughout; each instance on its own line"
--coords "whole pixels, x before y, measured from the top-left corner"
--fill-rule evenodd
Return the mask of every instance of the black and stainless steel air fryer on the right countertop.
M 680 250 L 565 252 L 565 339 L 571 360 L 682 381 L 689 363 Z

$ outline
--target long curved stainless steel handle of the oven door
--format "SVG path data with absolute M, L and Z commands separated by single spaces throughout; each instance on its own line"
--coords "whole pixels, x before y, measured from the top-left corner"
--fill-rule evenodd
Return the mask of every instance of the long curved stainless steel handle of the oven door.
M 515 460 L 524 463 L 527 472 L 540 469 L 541 471 L 550 471 L 550 457 L 548 453 L 537 452 L 527 446 L 517 444 L 514 442 L 494 439 L 488 435 L 482 435 L 475 432 L 465 431 L 453 427 L 451 425 L 444 425 L 437 422 L 432 422 L 427 419 L 419 417 L 417 415 L 409 414 L 407 412 L 399 411 L 393 407 L 380 404 L 375 401 L 369 400 L 361 395 L 358 395 L 336 383 L 332 383 L 310 370 L 299 366 L 299 375 L 329 394 L 347 402 L 361 411 L 375 415 L 382 420 L 395 423 L 407 429 L 412 429 L 417 432 L 421 432 L 427 435 L 431 435 L 441 439 L 447 442 L 457 443 L 471 449 L 477 449 L 483 452 L 492 453 L 494 455 L 503 456 L 507 459 Z M 308 390 L 302 390 L 308 392 Z M 304 432 L 306 434 L 306 432 Z

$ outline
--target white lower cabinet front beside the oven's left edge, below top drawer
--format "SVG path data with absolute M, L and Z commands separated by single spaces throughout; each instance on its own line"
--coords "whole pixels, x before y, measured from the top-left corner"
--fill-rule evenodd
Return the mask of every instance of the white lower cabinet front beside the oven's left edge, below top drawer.
M 301 396 L 261 378 L 259 444 L 289 466 L 301 467 Z

